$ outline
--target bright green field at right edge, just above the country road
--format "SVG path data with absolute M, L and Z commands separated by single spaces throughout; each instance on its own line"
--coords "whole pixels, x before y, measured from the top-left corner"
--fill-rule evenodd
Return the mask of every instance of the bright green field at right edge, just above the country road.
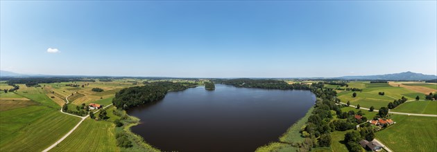
M 437 102 L 436 101 L 415 101 L 406 102 L 393 108 L 391 111 L 402 113 L 423 113 L 437 115 Z

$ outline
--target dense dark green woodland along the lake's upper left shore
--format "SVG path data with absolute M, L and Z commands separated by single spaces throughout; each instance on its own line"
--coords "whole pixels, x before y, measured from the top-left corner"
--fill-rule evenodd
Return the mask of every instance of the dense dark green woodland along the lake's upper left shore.
M 112 104 L 117 108 L 130 108 L 164 98 L 169 91 L 182 91 L 197 86 L 196 83 L 152 82 L 145 86 L 123 88 L 115 94 Z

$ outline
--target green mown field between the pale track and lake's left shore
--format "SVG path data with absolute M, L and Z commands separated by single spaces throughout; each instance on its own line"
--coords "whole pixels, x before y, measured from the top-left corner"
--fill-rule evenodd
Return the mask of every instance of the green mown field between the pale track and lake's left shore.
M 87 118 L 71 135 L 51 151 L 120 151 L 112 122 Z

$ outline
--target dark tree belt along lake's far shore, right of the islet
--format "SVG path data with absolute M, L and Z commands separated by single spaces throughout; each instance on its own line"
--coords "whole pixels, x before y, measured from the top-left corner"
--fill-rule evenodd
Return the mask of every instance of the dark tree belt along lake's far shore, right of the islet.
M 273 79 L 216 79 L 217 84 L 228 84 L 243 88 L 268 88 L 268 89 L 299 89 L 309 90 L 308 84 L 287 84 L 284 81 Z

